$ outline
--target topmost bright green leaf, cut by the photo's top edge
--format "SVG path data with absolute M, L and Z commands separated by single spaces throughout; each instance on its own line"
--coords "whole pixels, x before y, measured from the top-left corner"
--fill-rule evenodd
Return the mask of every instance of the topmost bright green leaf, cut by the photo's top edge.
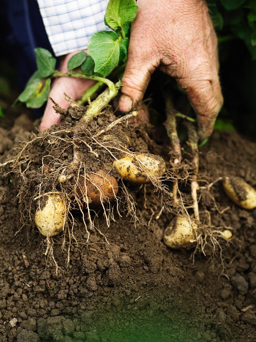
M 113 30 L 123 27 L 133 21 L 137 9 L 135 0 L 109 0 L 106 8 L 106 23 Z

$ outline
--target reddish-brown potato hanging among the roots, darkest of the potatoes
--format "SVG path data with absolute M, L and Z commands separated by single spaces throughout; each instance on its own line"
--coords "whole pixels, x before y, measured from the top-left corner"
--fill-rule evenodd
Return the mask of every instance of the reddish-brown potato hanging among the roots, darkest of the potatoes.
M 79 177 L 79 187 L 77 193 L 86 202 L 86 195 L 88 201 L 93 206 L 98 206 L 102 202 L 112 201 L 118 192 L 118 183 L 115 177 L 107 174 L 103 170 L 98 170 L 95 173 L 87 174 L 86 182 L 84 177 Z

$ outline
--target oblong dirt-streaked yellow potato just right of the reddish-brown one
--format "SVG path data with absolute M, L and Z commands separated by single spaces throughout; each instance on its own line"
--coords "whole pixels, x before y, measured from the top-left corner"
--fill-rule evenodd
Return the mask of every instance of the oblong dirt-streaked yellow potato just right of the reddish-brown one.
M 136 160 L 135 156 L 141 163 Z M 121 159 L 115 160 L 113 167 L 122 178 L 138 184 L 151 183 L 147 174 L 159 179 L 166 170 L 165 161 L 160 156 L 150 153 L 136 153 L 134 157 L 127 154 Z

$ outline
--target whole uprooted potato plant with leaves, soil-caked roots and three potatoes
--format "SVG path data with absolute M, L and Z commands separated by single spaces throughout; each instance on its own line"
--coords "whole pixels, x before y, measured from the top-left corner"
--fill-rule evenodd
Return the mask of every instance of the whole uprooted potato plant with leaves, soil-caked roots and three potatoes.
M 56 112 L 62 115 L 61 125 L 33 133 L 29 141 L 20 144 L 10 161 L 21 221 L 25 225 L 29 217 L 31 224 L 38 227 L 45 236 L 45 253 L 54 261 L 53 237 L 56 239 L 63 232 L 63 248 L 66 238 L 70 248 L 71 239 L 75 240 L 74 227 L 81 219 L 87 241 L 92 230 L 105 238 L 97 224 L 98 214 L 105 217 L 107 226 L 116 214 L 122 216 L 124 211 L 135 224 L 140 222 L 130 183 L 151 183 L 152 192 L 160 195 L 158 201 L 163 197 L 169 201 L 163 182 L 168 179 L 165 161 L 149 153 L 142 139 L 145 128 L 137 127 L 136 123 L 129 125 L 138 112 L 117 118 L 109 106 L 121 86 L 118 78 L 124 70 L 130 23 L 136 12 L 135 0 L 110 0 L 105 24 L 111 30 L 96 32 L 88 43 L 89 55 L 84 51 L 73 55 L 67 73 L 55 69 L 56 59 L 49 51 L 35 49 L 38 70 L 17 99 L 29 108 L 41 107 L 48 98 L 51 79 L 56 77 L 96 82 L 78 102 L 68 96 L 67 89 L 68 111 L 51 99 Z M 113 82 L 113 78 L 117 81 Z M 85 102 L 88 104 L 84 106 Z M 137 127 L 136 131 L 131 129 L 132 125 Z

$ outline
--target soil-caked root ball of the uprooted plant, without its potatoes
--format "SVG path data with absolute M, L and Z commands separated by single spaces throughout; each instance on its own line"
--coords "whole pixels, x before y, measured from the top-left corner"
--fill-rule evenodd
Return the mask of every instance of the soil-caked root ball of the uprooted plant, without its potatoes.
M 155 153 L 155 150 L 154 147 L 148 150 L 148 145 L 154 145 L 148 135 L 150 125 L 142 125 L 138 120 L 131 122 L 131 115 L 128 115 L 131 118 L 123 118 L 118 122 L 112 108 L 107 108 L 86 126 L 81 126 L 77 123 L 85 113 L 86 107 L 75 105 L 71 106 L 69 111 L 65 111 L 55 104 L 55 110 L 62 115 L 60 126 L 32 133 L 26 142 L 20 142 L 13 148 L 12 159 L 5 167 L 11 168 L 8 172 L 11 172 L 18 190 L 22 227 L 34 226 L 35 212 L 38 207 L 44 208 L 47 195 L 62 196 L 66 203 L 63 249 L 68 244 L 69 262 L 71 240 L 76 242 L 76 216 L 79 213 L 82 216 L 87 241 L 92 231 L 103 236 L 98 224 L 99 215 L 104 216 L 108 227 L 115 217 L 123 215 L 130 216 L 135 225 L 143 223 L 134 194 L 145 193 L 145 186 L 128 186 L 128 182 L 125 184 L 112 167 L 112 163 L 124 154 L 134 156 L 134 152 Z M 93 175 L 100 175 L 102 171 L 117 179 L 118 192 L 113 201 L 101 194 L 101 203 L 97 207 L 86 194 L 83 193 L 81 196 L 84 185 L 81 184 L 81 179 L 82 183 L 86 180 L 98 188 L 93 181 Z M 60 182 L 59 176 L 65 176 L 65 182 Z M 154 203 L 155 210 L 163 206 L 169 208 L 171 201 L 168 186 L 163 180 L 152 176 L 149 178 L 152 184 L 148 185 L 151 191 L 150 196 L 147 193 L 146 201 Z M 164 177 L 164 180 L 167 179 L 170 179 L 168 173 Z M 108 242 L 106 238 L 105 241 Z M 47 236 L 42 243 L 48 260 L 55 262 L 54 238 Z

